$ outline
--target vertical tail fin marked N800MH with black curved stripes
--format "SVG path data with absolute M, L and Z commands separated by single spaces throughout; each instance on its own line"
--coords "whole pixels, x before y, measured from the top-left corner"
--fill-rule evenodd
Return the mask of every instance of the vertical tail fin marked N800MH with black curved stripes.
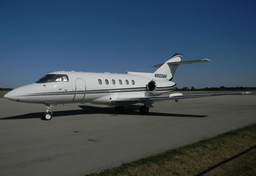
M 182 54 L 174 54 L 164 64 L 152 66 L 152 67 L 160 67 L 154 72 L 154 80 L 169 80 L 169 81 L 171 81 L 178 66 L 179 66 L 178 62 L 181 61 L 182 56 L 183 56 Z

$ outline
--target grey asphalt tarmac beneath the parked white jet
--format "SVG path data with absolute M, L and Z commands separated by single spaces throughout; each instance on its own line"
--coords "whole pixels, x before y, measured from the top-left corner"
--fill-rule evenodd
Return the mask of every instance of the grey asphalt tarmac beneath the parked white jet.
M 1 176 L 80 176 L 256 123 L 256 96 L 154 103 L 124 112 L 91 104 L 53 107 L 0 98 Z

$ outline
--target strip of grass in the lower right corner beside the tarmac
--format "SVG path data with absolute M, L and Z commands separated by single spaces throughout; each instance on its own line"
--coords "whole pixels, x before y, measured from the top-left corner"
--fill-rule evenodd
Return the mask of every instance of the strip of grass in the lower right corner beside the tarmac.
M 88 176 L 255 176 L 256 124 Z

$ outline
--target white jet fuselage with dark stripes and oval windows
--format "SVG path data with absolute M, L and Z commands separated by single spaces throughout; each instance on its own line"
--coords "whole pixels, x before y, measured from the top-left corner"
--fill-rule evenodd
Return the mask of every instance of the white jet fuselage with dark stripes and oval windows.
M 159 96 L 176 88 L 172 81 L 158 83 L 154 92 L 148 83 L 154 79 L 131 74 L 58 71 L 51 75 L 67 75 L 68 81 L 32 83 L 16 88 L 5 98 L 17 102 L 38 104 L 93 103 L 115 106 L 116 98 Z

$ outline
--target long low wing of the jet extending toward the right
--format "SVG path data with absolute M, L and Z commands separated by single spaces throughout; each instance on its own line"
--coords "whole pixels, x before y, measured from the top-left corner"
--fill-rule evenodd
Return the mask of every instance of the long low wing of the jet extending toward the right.
M 222 95 L 239 95 L 239 94 L 248 94 L 250 92 L 232 92 L 232 93 L 217 93 L 217 94 L 180 94 L 174 93 L 170 94 L 170 96 L 148 96 L 148 97 L 134 97 L 134 98 L 116 98 L 112 100 L 115 103 L 129 103 L 129 104 L 136 104 L 136 103 L 144 103 L 144 102 L 153 102 L 159 100 L 175 100 L 178 102 L 179 99 L 184 98 L 198 98 L 198 97 L 207 97 L 207 96 L 222 96 Z

